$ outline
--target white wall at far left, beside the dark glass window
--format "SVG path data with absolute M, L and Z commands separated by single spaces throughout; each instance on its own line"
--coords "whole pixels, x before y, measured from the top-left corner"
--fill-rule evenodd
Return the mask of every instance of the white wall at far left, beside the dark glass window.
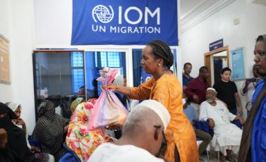
M 0 0 L 0 34 L 10 41 L 11 83 L 0 83 L 0 101 L 21 103 L 21 118 L 31 133 L 35 125 L 32 49 L 34 0 Z

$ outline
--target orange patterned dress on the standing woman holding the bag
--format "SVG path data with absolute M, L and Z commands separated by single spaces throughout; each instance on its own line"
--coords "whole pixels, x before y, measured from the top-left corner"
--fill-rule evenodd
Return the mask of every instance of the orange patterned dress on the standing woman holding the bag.
M 152 77 L 137 88 L 131 88 L 129 97 L 159 101 L 171 114 L 171 121 L 165 134 L 167 138 L 165 159 L 175 160 L 176 145 L 181 162 L 199 161 L 196 134 L 189 119 L 183 113 L 182 86 L 174 74 L 163 74 L 157 81 Z

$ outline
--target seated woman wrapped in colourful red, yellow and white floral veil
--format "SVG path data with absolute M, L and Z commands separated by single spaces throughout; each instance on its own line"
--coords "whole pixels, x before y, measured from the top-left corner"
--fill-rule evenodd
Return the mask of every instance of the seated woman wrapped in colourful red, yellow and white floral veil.
M 95 100 L 80 103 L 70 118 L 66 145 L 74 150 L 81 161 L 88 161 L 93 151 L 102 143 L 113 141 L 104 132 L 104 129 L 88 130 L 88 121 L 91 119 L 91 110 Z

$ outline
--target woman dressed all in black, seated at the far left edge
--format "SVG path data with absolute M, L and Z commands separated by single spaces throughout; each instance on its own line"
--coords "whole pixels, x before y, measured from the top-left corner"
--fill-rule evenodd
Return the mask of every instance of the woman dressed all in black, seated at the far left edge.
M 17 115 L 0 103 L 0 128 L 7 139 L 1 144 L 0 161 L 49 161 L 48 154 L 34 154 L 27 146 L 25 132 L 12 123 Z M 5 136 L 3 136 L 5 137 Z

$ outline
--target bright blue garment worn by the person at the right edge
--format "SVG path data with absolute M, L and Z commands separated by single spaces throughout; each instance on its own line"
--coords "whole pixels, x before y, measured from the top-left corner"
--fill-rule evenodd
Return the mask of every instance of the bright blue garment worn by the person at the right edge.
M 260 79 L 251 100 L 252 105 L 254 105 L 264 85 L 265 81 Z M 253 123 L 251 132 L 251 158 L 254 162 L 265 161 L 266 159 L 266 97 L 260 103 L 260 108 Z

